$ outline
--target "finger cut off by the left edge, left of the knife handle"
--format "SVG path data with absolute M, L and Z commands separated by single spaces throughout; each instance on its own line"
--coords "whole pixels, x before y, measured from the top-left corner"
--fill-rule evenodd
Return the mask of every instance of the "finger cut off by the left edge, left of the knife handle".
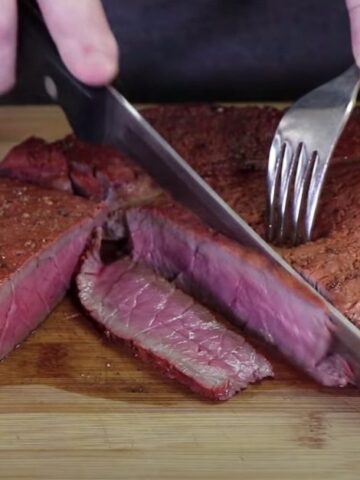
M 15 83 L 16 57 L 16 2 L 0 0 L 0 93 Z

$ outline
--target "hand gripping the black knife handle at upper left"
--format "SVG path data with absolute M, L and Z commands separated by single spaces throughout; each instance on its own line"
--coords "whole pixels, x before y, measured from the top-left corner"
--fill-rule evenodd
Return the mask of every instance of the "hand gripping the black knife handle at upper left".
M 100 0 L 37 0 L 67 68 L 80 81 L 100 86 L 118 72 L 118 46 Z M 15 83 L 17 2 L 0 0 L 0 93 Z

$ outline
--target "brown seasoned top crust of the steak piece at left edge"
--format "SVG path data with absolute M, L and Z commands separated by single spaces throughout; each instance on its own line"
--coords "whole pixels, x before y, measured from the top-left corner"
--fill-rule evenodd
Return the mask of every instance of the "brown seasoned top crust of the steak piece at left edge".
M 102 208 L 56 190 L 0 179 L 0 287 L 31 257 Z

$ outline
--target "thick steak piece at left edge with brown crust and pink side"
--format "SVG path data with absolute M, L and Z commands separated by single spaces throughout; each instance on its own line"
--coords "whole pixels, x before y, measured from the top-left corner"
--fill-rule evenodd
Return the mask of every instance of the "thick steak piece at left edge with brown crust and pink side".
M 0 359 L 62 299 L 102 212 L 72 195 L 0 179 Z

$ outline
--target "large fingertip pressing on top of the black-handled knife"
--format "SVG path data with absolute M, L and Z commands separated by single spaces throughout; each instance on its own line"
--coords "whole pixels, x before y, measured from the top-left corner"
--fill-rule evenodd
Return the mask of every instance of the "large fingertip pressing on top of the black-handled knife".
M 69 70 L 98 86 L 118 72 L 118 47 L 100 0 L 38 0 L 44 19 Z

